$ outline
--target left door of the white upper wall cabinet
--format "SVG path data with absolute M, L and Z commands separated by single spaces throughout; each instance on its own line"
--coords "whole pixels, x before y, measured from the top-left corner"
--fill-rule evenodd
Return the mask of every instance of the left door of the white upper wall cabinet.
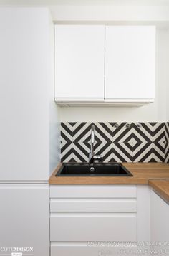
M 105 27 L 55 26 L 55 98 L 104 98 Z

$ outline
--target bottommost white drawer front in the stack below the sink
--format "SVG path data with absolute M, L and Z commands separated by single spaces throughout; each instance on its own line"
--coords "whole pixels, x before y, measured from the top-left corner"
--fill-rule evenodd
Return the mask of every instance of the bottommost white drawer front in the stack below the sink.
M 101 255 L 118 255 L 124 256 L 129 252 L 132 256 L 137 255 L 136 245 L 125 246 L 125 242 L 122 245 L 120 243 L 115 246 L 114 242 L 52 242 L 51 256 L 101 256 Z M 128 254 L 129 255 L 129 254 Z

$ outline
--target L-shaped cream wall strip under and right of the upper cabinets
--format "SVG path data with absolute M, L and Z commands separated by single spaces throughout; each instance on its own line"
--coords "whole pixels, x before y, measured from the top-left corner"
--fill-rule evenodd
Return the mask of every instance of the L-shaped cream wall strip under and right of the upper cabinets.
M 157 29 L 155 102 L 141 107 L 60 107 L 61 121 L 166 121 L 169 118 L 169 36 Z M 169 55 L 169 54 L 168 54 Z M 167 113 L 168 106 L 168 113 Z

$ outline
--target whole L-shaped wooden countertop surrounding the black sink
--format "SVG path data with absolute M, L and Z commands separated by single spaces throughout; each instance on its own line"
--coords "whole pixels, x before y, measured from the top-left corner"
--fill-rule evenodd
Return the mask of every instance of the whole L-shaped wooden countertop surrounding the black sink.
M 132 177 L 59 177 L 55 176 L 62 163 L 49 178 L 49 184 L 149 184 L 169 202 L 169 164 L 167 163 L 122 163 Z

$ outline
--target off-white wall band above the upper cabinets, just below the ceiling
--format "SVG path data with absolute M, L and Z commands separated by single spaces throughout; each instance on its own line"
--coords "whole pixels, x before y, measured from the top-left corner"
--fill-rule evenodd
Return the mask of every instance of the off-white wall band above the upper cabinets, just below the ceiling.
M 169 6 L 135 6 L 135 3 L 132 6 L 69 4 L 49 8 L 55 21 L 169 21 Z

